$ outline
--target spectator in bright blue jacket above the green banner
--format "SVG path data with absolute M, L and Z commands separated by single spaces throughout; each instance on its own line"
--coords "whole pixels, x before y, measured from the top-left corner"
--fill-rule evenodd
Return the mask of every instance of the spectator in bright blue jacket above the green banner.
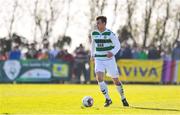
M 20 60 L 21 51 L 19 50 L 19 46 L 14 46 L 13 49 L 9 52 L 9 59 L 12 60 Z

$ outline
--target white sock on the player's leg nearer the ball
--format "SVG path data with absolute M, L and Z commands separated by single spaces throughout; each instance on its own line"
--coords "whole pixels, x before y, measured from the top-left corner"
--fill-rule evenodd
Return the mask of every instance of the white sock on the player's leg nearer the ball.
M 104 81 L 102 81 L 102 82 L 98 82 L 98 84 L 99 84 L 101 92 L 104 94 L 105 98 L 110 99 L 106 83 Z

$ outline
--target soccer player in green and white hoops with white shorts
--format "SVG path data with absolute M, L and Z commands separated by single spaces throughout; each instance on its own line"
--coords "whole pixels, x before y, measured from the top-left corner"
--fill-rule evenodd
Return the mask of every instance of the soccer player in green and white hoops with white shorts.
M 123 106 L 129 106 L 124 96 L 122 83 L 118 79 L 119 72 L 115 61 L 115 54 L 120 49 L 120 42 L 111 30 L 106 29 L 107 18 L 105 16 L 98 16 L 96 23 L 97 30 L 91 33 L 91 59 L 95 62 L 96 80 L 106 99 L 104 107 L 112 104 L 107 85 L 103 80 L 105 71 L 111 76 L 116 85 Z

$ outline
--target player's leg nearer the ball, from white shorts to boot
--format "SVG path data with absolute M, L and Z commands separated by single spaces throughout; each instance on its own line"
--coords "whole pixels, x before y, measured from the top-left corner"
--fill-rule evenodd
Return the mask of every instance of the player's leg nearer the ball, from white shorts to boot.
M 103 61 L 95 60 L 96 80 L 98 82 L 101 92 L 103 93 L 103 95 L 106 99 L 104 106 L 107 107 L 112 103 L 112 101 L 109 97 L 107 84 L 104 82 L 104 79 L 103 79 L 104 72 L 105 72 L 105 68 L 103 65 Z

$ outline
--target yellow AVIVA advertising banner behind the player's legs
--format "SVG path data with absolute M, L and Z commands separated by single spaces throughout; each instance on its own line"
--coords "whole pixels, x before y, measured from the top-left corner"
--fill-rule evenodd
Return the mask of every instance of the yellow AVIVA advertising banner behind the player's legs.
M 119 79 L 126 82 L 161 82 L 163 60 L 119 60 Z M 106 80 L 110 80 L 107 76 Z M 91 62 L 91 80 L 94 77 L 94 65 Z

